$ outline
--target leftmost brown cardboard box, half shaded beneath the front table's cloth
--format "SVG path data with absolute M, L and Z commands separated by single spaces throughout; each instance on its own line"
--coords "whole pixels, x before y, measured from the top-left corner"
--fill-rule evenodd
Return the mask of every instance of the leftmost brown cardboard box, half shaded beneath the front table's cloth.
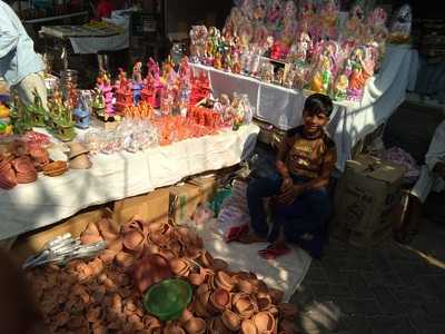
M 109 215 L 107 209 L 96 209 L 76 215 L 56 225 L 33 230 L 19 237 L 11 248 L 11 254 L 17 262 L 21 264 L 29 256 L 40 252 L 43 245 L 50 239 L 66 233 L 70 233 L 73 237 L 78 237 L 89 223 L 98 222 L 107 215 Z

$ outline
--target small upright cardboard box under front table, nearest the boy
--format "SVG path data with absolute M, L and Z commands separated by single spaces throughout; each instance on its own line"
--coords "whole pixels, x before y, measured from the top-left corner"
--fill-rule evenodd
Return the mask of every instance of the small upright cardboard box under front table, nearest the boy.
M 168 188 L 170 191 L 170 218 L 175 224 L 181 224 L 191 218 L 201 203 L 201 191 L 198 186 L 185 184 Z

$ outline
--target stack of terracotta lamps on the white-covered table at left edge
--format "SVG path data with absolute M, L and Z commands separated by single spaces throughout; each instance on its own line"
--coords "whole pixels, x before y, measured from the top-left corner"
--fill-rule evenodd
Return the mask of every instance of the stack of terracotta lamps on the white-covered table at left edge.
M 28 147 L 17 140 L 8 153 L 0 154 L 0 188 L 12 189 L 18 184 L 37 180 L 38 171 L 50 164 L 48 151 L 41 147 Z

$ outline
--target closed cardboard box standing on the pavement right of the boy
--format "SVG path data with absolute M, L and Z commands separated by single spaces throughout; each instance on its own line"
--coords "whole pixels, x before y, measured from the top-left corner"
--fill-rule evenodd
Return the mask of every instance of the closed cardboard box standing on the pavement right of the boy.
M 403 166 L 367 155 L 347 161 L 335 193 L 334 226 L 373 244 L 375 232 L 397 224 L 405 173 Z

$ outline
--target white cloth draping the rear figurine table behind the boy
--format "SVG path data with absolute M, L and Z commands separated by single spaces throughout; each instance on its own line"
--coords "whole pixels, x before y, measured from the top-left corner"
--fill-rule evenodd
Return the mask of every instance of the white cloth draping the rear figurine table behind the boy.
M 337 168 L 343 170 L 353 146 L 383 124 L 405 99 L 406 89 L 415 78 L 417 53 L 408 46 L 392 46 L 386 50 L 380 71 L 368 80 L 362 101 L 335 102 L 328 131 L 337 145 Z M 255 107 L 255 117 L 287 130 L 301 121 L 308 91 L 287 89 L 255 78 L 228 73 L 201 65 L 194 69 L 209 73 L 215 96 L 247 94 Z

